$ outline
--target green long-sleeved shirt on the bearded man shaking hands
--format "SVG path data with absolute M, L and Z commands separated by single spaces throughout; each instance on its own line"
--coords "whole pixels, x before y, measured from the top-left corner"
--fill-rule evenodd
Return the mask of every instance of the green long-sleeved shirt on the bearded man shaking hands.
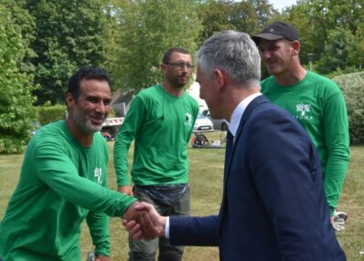
M 64 120 L 37 131 L 0 223 L 0 256 L 80 261 L 80 224 L 85 218 L 96 254 L 109 256 L 106 214 L 123 215 L 135 199 L 105 188 L 108 157 L 100 133 L 93 135 L 90 147 L 84 147 Z

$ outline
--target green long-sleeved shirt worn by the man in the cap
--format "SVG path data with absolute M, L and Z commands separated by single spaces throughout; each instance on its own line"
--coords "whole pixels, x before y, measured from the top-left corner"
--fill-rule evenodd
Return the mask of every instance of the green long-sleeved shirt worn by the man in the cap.
M 262 93 L 288 110 L 316 145 L 324 174 L 327 203 L 333 214 L 345 181 L 349 159 L 348 113 L 337 84 L 314 72 L 292 86 L 273 76 L 262 81 Z

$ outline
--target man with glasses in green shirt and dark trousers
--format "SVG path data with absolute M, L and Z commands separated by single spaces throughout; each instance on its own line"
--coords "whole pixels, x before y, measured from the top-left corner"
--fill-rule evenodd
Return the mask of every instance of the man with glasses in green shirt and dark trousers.
M 133 100 L 114 144 L 113 160 L 118 191 L 155 205 L 162 215 L 189 214 L 187 143 L 198 116 L 198 102 L 184 87 L 192 69 L 187 49 L 172 47 L 163 57 L 162 84 L 142 90 Z M 128 175 L 128 151 L 134 142 Z M 130 240 L 129 260 L 182 259 L 183 247 L 171 246 L 166 238 Z

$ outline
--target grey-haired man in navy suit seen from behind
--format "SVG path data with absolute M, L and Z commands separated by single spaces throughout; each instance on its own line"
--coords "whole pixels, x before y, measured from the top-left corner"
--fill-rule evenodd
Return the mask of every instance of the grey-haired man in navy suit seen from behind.
M 260 92 L 261 60 L 245 33 L 210 37 L 197 55 L 200 97 L 230 121 L 219 215 L 164 217 L 175 245 L 219 245 L 220 260 L 346 260 L 330 224 L 320 162 L 305 130 Z M 140 224 L 124 223 L 135 238 Z

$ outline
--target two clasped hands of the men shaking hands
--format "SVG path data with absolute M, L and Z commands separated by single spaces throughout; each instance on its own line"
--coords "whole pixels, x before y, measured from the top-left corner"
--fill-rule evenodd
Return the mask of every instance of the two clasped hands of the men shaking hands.
M 122 216 L 123 226 L 134 240 L 152 240 L 165 236 L 166 216 L 159 215 L 152 204 L 135 202 Z

